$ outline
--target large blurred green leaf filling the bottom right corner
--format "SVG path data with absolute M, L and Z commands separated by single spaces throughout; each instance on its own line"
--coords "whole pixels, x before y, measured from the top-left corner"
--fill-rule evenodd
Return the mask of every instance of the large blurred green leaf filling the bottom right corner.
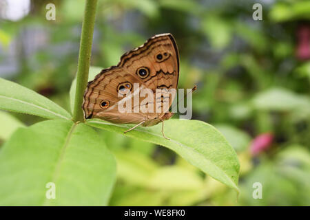
M 240 202 L 249 206 L 307 206 L 310 202 L 309 151 L 287 146 L 276 161 L 263 159 L 240 184 Z M 262 184 L 262 199 L 253 199 L 253 184 Z

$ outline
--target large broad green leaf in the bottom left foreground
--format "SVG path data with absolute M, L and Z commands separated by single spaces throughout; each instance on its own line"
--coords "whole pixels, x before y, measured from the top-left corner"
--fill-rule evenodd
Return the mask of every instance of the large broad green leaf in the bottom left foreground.
M 90 126 L 48 120 L 18 129 L 0 153 L 1 206 L 104 206 L 116 162 Z M 47 199 L 52 182 L 56 199 Z

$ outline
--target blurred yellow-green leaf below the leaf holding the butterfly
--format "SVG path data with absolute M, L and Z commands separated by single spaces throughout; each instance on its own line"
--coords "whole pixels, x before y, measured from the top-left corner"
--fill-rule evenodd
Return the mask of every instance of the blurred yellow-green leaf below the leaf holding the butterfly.
M 134 186 L 152 190 L 193 190 L 203 187 L 196 172 L 180 166 L 158 167 L 155 162 L 134 151 L 116 152 L 118 178 Z

